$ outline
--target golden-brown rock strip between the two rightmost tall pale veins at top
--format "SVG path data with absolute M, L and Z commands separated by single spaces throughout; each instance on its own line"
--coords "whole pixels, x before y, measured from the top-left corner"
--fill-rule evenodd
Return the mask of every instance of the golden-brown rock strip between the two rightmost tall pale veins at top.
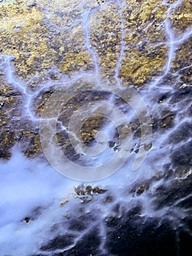
M 167 48 L 161 24 L 167 8 L 159 4 L 161 1 L 131 1 L 123 10 L 126 48 L 120 78 L 126 85 L 142 86 L 164 67 Z

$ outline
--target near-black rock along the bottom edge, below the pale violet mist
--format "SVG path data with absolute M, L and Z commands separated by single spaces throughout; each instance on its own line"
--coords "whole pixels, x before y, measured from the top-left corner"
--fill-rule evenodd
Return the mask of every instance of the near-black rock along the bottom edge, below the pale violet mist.
M 95 225 L 87 233 L 82 233 L 74 246 L 73 237 L 66 234 L 42 246 L 41 254 L 31 256 L 188 256 L 192 243 L 192 212 L 191 217 L 185 217 L 182 222 L 183 225 L 179 225 L 169 217 L 145 217 L 142 215 L 142 206 L 138 205 L 121 217 L 109 216 L 104 219 L 106 238 L 102 247 L 104 237 Z M 80 223 L 76 221 L 74 225 L 78 229 Z M 62 248 L 70 244 L 69 249 L 55 252 L 56 249 L 62 251 Z

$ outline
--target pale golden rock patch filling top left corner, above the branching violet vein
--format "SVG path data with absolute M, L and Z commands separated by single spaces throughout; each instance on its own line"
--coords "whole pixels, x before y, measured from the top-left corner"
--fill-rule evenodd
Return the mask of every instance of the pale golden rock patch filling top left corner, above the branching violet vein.
M 57 1 L 28 4 L 28 1 L 17 0 L 10 3 L 5 1 L 0 6 L 0 18 L 4 20 L 4 26 L 1 26 L 1 53 L 15 56 L 13 63 L 16 71 L 25 80 L 44 74 L 53 66 L 68 74 L 91 64 L 89 53 L 83 51 L 82 26 L 77 24 L 74 29 L 67 31 L 68 25 L 63 22 L 62 16 L 67 13 L 67 17 L 70 17 L 72 14 L 68 10 L 72 6 L 61 4 Z M 52 18 L 49 19 L 48 15 L 52 15 Z M 77 18 L 77 15 L 78 11 L 72 16 Z M 54 23 L 56 21 L 55 26 L 52 19 Z M 62 31 L 60 26 L 66 26 L 66 29 Z

